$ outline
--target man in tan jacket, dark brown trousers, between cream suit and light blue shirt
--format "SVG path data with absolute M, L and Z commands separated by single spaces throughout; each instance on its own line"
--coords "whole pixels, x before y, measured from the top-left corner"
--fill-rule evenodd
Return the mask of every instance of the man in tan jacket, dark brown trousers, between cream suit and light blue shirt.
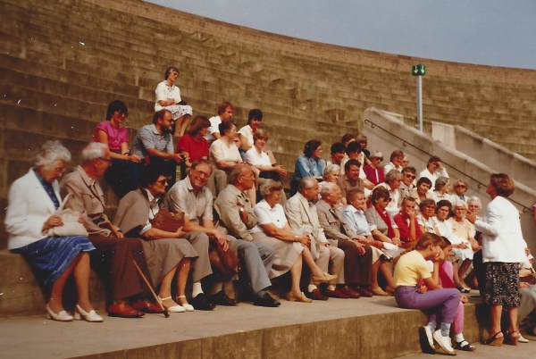
M 331 246 L 344 251 L 344 283 L 339 280 L 335 292 L 352 298 L 373 296 L 366 289 L 370 285 L 373 251 L 370 246 L 359 243 L 357 238 L 348 237 L 348 226 L 336 206 L 341 198 L 340 188 L 335 183 L 326 183 L 320 191 L 322 199 L 316 203 L 318 221 Z M 328 293 L 330 296 L 331 293 Z

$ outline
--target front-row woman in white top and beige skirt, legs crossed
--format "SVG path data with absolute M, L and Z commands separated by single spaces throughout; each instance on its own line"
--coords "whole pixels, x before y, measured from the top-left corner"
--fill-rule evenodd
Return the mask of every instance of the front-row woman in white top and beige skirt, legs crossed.
M 290 228 L 283 207 L 279 204 L 282 191 L 283 186 L 280 182 L 273 179 L 264 181 L 261 186 L 261 195 L 264 199 L 253 207 L 257 225 L 249 230 L 249 233 L 255 242 L 264 243 L 275 249 L 276 255 L 270 270 L 270 279 L 290 271 L 292 287 L 289 291 L 289 301 L 311 303 L 312 300 L 299 288 L 302 261 L 311 270 L 315 283 L 327 283 L 337 276 L 324 273 L 314 263 L 313 255 L 309 251 L 311 238 Z

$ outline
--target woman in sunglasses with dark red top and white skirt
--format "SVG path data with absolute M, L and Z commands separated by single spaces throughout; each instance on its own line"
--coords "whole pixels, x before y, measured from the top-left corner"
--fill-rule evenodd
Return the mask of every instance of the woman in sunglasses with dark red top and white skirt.
M 371 195 L 373 206 L 364 212 L 364 216 L 370 226 L 373 238 L 383 242 L 387 254 L 395 257 L 404 252 L 404 249 L 400 248 L 402 242 L 398 226 L 387 213 L 387 205 L 391 200 L 387 188 L 374 188 Z

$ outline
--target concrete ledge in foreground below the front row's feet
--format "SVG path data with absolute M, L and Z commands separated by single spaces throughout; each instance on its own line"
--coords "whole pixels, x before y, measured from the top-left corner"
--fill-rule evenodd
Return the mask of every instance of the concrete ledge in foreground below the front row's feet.
M 465 338 L 486 334 L 486 309 L 465 305 Z M 421 351 L 426 316 L 400 309 L 393 297 L 334 299 L 312 304 L 282 300 L 279 308 L 240 303 L 214 312 L 151 314 L 104 323 L 62 323 L 43 316 L 0 319 L 0 346 L 9 358 L 370 358 Z M 127 329 L 129 328 L 129 329 Z M 83 335 L 81 335 L 83 333 Z M 28 346 L 28 338 L 32 345 Z

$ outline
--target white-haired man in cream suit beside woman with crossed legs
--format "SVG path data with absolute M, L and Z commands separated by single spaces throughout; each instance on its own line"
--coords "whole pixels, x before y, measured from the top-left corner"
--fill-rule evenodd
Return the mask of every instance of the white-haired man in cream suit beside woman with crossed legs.
M 297 186 L 296 195 L 290 197 L 284 206 L 285 214 L 293 230 L 301 230 L 311 236 L 311 254 L 316 265 L 322 271 L 327 272 L 331 260 L 331 274 L 337 275 L 339 280 L 344 280 L 344 252 L 340 248 L 331 246 L 328 242 L 318 221 L 316 207 L 312 203 L 319 194 L 320 190 L 316 179 L 313 177 L 301 179 Z M 331 296 L 339 296 L 339 291 L 335 290 L 335 283 L 338 281 L 331 280 L 327 289 Z M 313 279 L 307 288 L 306 296 L 316 300 L 328 300 L 328 297 L 324 296 L 313 283 Z

